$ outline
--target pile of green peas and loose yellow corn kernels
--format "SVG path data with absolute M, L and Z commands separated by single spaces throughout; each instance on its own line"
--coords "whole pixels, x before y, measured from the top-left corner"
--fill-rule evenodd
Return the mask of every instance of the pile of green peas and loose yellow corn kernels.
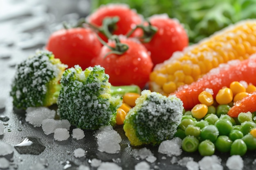
M 236 118 L 227 115 L 234 102 L 252 91 L 256 86 L 232 82 L 220 89 L 215 99 L 210 90 L 200 93 L 200 104 L 184 110 L 175 134 L 182 139 L 182 149 L 199 151 L 202 156 L 211 156 L 216 150 L 243 156 L 247 150 L 256 150 L 256 112 L 240 113 Z

